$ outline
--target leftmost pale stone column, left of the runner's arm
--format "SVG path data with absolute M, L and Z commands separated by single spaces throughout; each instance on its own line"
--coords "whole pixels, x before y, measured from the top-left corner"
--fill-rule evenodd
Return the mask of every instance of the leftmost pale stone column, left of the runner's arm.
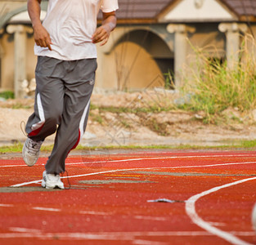
M 8 25 L 8 33 L 14 33 L 14 94 L 16 98 L 24 98 L 25 89 L 22 83 L 26 80 L 26 34 L 33 29 L 25 25 Z

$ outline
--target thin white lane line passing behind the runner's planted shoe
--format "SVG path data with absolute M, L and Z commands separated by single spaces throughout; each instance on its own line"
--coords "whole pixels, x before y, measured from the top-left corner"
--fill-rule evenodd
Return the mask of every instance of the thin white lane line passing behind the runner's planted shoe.
M 240 164 L 254 164 L 256 162 L 245 162 L 245 163 L 220 163 L 220 164 L 209 164 L 209 165 L 191 165 L 191 166 L 177 166 L 177 167 L 139 167 L 139 168 L 126 168 L 126 169 L 115 169 L 115 170 L 110 170 L 110 171 L 97 171 L 97 172 L 92 172 L 88 174 L 83 174 L 83 175 L 76 175 L 76 176 L 63 176 L 61 179 L 66 179 L 66 178 L 77 178 L 77 177 L 83 177 L 83 176 L 96 176 L 96 175 L 101 175 L 101 174 L 106 174 L 106 173 L 111 173 L 111 172 L 117 172 L 117 171 L 137 171 L 137 170 L 150 170 L 150 169 L 182 169 L 182 168 L 192 168 L 192 167 L 218 167 L 218 166 L 229 166 L 229 165 L 240 165 Z M 29 181 L 29 182 L 24 182 L 16 185 L 11 185 L 11 187 L 21 187 L 25 185 L 31 185 L 31 184 L 38 184 L 42 180 L 34 180 L 34 181 Z

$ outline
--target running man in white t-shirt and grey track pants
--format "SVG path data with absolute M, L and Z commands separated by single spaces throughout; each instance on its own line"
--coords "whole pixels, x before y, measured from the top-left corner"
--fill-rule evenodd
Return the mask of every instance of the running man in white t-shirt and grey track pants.
M 79 144 L 88 121 L 97 69 L 95 43 L 106 44 L 115 29 L 118 0 L 49 0 L 43 24 L 40 4 L 28 0 L 38 63 L 34 113 L 26 123 L 22 156 L 33 166 L 43 140 L 56 132 L 42 186 L 64 189 L 60 174 L 65 172 L 65 158 Z M 97 28 L 100 9 L 103 20 Z

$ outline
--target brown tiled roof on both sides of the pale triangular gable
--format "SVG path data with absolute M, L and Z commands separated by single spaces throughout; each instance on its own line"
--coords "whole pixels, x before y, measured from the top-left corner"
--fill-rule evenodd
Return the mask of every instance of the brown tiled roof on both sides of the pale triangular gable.
M 120 22 L 157 22 L 158 16 L 182 0 L 119 0 Z M 204 0 L 209 1 L 209 0 Z M 238 20 L 256 21 L 256 0 L 214 0 L 237 16 Z

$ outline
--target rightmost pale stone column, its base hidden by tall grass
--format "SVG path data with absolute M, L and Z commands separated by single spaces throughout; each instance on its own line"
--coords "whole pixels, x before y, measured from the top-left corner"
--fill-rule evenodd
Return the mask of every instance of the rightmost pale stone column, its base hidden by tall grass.
M 233 69 L 239 62 L 239 50 L 240 50 L 240 31 L 247 30 L 247 25 L 237 23 L 221 23 L 218 25 L 218 29 L 222 33 L 226 33 L 226 56 L 227 67 Z

